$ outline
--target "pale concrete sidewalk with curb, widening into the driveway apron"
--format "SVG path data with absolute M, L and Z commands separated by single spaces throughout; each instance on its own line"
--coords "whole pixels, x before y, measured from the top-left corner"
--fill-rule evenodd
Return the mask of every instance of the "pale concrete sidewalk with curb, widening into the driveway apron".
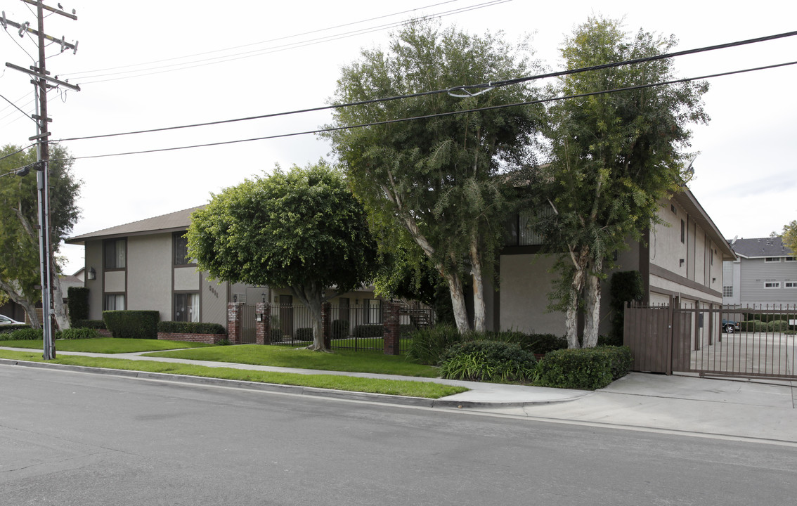
M 3 347 L 14 351 L 29 351 Z M 391 395 L 355 394 L 339 390 L 308 389 L 300 386 L 269 386 L 230 380 L 186 379 L 155 373 L 119 374 L 148 379 L 201 382 L 226 386 L 252 387 L 296 394 L 351 398 L 371 402 L 390 402 L 437 408 L 454 408 L 551 422 L 576 422 L 596 426 L 664 430 L 695 433 L 711 437 L 750 438 L 756 441 L 797 445 L 797 382 L 775 380 L 734 381 L 685 375 L 631 373 L 602 390 L 567 390 L 540 386 L 501 385 L 449 379 L 414 378 L 340 371 L 317 371 L 286 367 L 254 366 L 200 360 L 144 357 L 140 353 L 92 354 L 59 351 L 61 355 L 88 355 L 116 359 L 156 360 L 192 363 L 206 367 L 234 367 L 257 371 L 279 371 L 303 375 L 349 375 L 363 378 L 440 382 L 469 388 L 467 392 L 437 400 L 401 398 Z M 0 360 L 0 363 L 15 363 Z M 33 363 L 29 363 L 33 365 Z M 35 367 L 85 370 L 81 367 L 36 363 Z M 109 374 L 109 371 L 104 371 Z M 114 373 L 111 373 L 114 374 Z M 241 383 L 241 385 L 238 385 Z

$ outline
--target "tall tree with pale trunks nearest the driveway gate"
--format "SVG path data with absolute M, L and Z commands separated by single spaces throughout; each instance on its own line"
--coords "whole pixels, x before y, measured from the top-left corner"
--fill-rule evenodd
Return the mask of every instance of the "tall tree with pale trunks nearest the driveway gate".
M 591 17 L 567 37 L 567 69 L 650 57 L 676 44 L 640 30 L 630 36 L 620 22 Z M 578 95 L 673 80 L 669 59 L 574 73 L 559 81 L 563 95 Z M 580 96 L 552 106 L 550 163 L 532 175 L 530 200 L 550 212 L 536 225 L 546 251 L 556 254 L 560 283 L 552 308 L 566 312 L 569 347 L 579 347 L 577 316 L 586 308 L 583 347 L 598 339 L 600 281 L 626 241 L 641 240 L 658 222 L 660 201 L 688 181 L 685 153 L 691 122 L 707 123 L 705 83 L 669 84 Z

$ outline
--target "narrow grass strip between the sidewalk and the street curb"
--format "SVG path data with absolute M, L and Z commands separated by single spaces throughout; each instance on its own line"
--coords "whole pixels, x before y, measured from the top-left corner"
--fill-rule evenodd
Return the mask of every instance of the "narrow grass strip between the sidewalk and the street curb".
M 0 350 L 0 358 L 44 362 L 41 355 L 26 351 Z M 459 394 L 468 389 L 461 386 L 442 385 L 432 382 L 397 381 L 392 379 L 354 378 L 333 375 L 297 375 L 268 371 L 245 371 L 228 367 L 203 367 L 182 363 L 151 362 L 148 360 L 107 359 L 79 355 L 61 355 L 48 363 L 72 366 L 122 369 L 125 371 L 160 372 L 171 375 L 202 376 L 203 378 L 236 379 L 240 381 L 298 385 L 372 394 L 405 395 L 421 398 L 442 398 Z

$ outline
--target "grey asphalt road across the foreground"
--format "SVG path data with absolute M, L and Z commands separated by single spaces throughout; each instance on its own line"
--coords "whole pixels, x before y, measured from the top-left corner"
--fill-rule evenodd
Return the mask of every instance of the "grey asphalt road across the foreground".
M 794 504 L 797 449 L 0 366 L 0 504 Z

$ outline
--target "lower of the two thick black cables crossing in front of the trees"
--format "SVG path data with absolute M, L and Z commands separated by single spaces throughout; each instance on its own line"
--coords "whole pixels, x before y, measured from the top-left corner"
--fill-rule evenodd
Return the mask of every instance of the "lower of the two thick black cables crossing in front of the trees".
M 665 85 L 668 85 L 668 84 L 685 83 L 685 82 L 689 82 L 689 81 L 693 81 L 693 80 L 704 80 L 704 79 L 711 79 L 713 77 L 731 76 L 733 74 L 756 72 L 756 71 L 765 70 L 765 69 L 776 69 L 778 67 L 784 67 L 784 66 L 787 66 L 787 65 L 797 65 L 797 61 L 789 61 L 789 62 L 786 62 L 786 63 L 779 63 L 779 64 L 775 64 L 775 65 L 765 65 L 765 66 L 762 66 L 762 67 L 756 67 L 756 68 L 752 68 L 752 69 L 742 69 L 742 70 L 733 70 L 733 71 L 724 72 L 724 73 L 714 73 L 714 74 L 708 74 L 708 75 L 705 75 L 705 76 L 685 77 L 685 78 L 682 78 L 682 79 L 667 80 L 667 81 L 662 81 L 662 82 L 652 83 L 652 84 L 638 84 L 638 85 L 635 85 L 635 86 L 627 86 L 627 87 L 624 87 L 624 88 L 613 88 L 613 89 L 609 89 L 609 90 L 602 90 L 602 91 L 599 91 L 599 92 L 578 93 L 578 94 L 575 94 L 575 95 L 567 95 L 567 96 L 554 96 L 554 97 L 549 97 L 549 98 L 540 99 L 540 100 L 529 100 L 529 101 L 526 101 L 526 102 L 516 102 L 514 104 L 493 105 L 493 106 L 489 106 L 489 107 L 485 107 L 485 108 L 473 108 L 473 109 L 466 109 L 466 110 L 452 111 L 452 112 L 439 112 L 437 114 L 429 114 L 429 115 L 424 115 L 424 116 L 412 116 L 412 117 L 409 117 L 409 118 L 399 118 L 399 119 L 396 119 L 396 120 L 377 121 L 377 122 L 374 122 L 374 123 L 367 123 L 367 124 L 347 125 L 347 126 L 344 126 L 344 127 L 319 128 L 319 129 L 316 129 L 316 130 L 296 131 L 296 132 L 292 132 L 292 133 L 288 133 L 288 134 L 265 135 L 265 136 L 262 136 L 262 137 L 253 137 L 253 138 L 249 138 L 249 139 L 235 139 L 235 140 L 228 140 L 228 141 L 220 141 L 218 143 L 203 143 L 203 144 L 193 144 L 193 145 L 190 145 L 190 146 L 163 147 L 163 148 L 159 148 L 159 149 L 151 149 L 151 150 L 143 150 L 143 151 L 127 151 L 127 152 L 123 152 L 123 153 L 110 153 L 110 154 L 107 154 L 107 155 L 75 156 L 75 157 L 71 157 L 71 159 L 96 159 L 96 158 L 108 158 L 108 157 L 112 157 L 112 156 L 143 155 L 143 154 L 147 154 L 147 153 L 157 153 L 157 152 L 163 152 L 163 151 L 179 151 L 179 150 L 183 150 L 183 149 L 193 149 L 193 148 L 196 148 L 196 147 L 213 147 L 213 146 L 222 146 L 222 145 L 226 145 L 226 144 L 248 143 L 248 142 L 253 142 L 253 141 L 256 141 L 256 140 L 279 139 L 279 138 L 284 138 L 284 137 L 294 137 L 294 136 L 298 136 L 298 135 L 319 134 L 319 133 L 324 133 L 324 132 L 328 132 L 328 131 L 351 130 L 351 129 L 354 129 L 354 128 L 362 128 L 362 127 L 375 127 L 375 126 L 385 125 L 385 124 L 403 123 L 403 122 L 406 122 L 406 121 L 428 120 L 428 119 L 431 119 L 431 118 L 439 118 L 439 117 L 443 117 L 443 116 L 456 116 L 456 115 L 459 115 L 459 114 L 467 114 L 467 113 L 470 113 L 470 112 L 484 112 L 484 111 L 493 111 L 493 110 L 502 109 L 502 108 L 521 107 L 521 106 L 524 106 L 524 105 L 545 104 L 545 103 L 548 103 L 548 102 L 555 102 L 555 101 L 559 101 L 559 100 L 567 100 L 567 99 L 573 99 L 573 98 L 581 98 L 581 97 L 584 97 L 584 96 L 605 95 L 607 93 L 627 92 L 627 91 L 632 91 L 632 90 L 642 89 L 642 88 L 654 88 L 654 87 L 657 87 L 657 86 L 665 86 Z

